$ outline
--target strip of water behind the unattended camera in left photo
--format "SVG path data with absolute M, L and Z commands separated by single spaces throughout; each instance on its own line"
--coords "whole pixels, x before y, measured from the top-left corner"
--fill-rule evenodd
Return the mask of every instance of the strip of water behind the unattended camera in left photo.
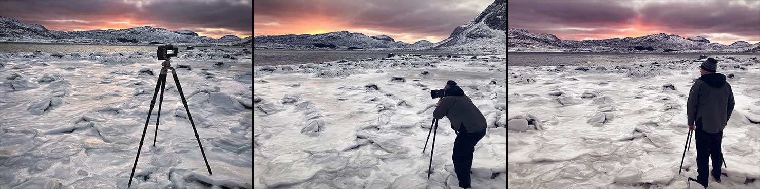
M 164 44 L 162 44 L 164 45 Z M 159 45 L 157 45 L 159 46 Z M 93 44 L 68 44 L 68 43 L 0 43 L 0 52 L 34 52 L 42 51 L 45 53 L 52 52 L 79 52 L 81 54 L 90 54 L 93 52 L 105 52 L 114 54 L 117 52 L 156 52 L 157 46 L 114 46 L 114 45 L 93 45 Z M 179 47 L 179 51 L 184 51 L 186 46 Z M 252 50 L 251 47 L 208 47 L 194 46 L 195 49 L 224 49 L 224 50 Z

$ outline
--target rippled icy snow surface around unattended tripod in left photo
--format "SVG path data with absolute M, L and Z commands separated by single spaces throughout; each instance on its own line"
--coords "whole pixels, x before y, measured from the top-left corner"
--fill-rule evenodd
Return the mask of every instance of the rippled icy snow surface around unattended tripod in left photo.
M 177 77 L 214 174 L 168 73 L 157 138 L 156 106 L 132 187 L 252 188 L 251 52 L 180 55 L 190 53 L 172 63 L 192 65 Z M 154 53 L 0 53 L 0 62 L 0 187 L 127 187 L 161 68 Z

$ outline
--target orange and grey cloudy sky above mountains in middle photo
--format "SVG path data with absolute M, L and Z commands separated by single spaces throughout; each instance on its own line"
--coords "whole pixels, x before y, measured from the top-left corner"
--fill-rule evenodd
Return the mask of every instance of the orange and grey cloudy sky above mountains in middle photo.
M 254 0 L 254 36 L 347 30 L 432 43 L 486 10 L 493 0 Z

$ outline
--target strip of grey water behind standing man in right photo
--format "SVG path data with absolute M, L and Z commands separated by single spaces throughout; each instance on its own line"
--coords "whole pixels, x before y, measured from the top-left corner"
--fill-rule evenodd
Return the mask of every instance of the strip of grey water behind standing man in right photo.
M 508 52 L 508 66 L 556 66 L 585 65 L 611 66 L 650 64 L 654 61 L 667 63 L 682 59 L 698 59 L 700 53 L 610 53 L 610 52 Z M 760 57 L 760 54 L 704 54 L 708 57 L 730 56 L 736 58 Z

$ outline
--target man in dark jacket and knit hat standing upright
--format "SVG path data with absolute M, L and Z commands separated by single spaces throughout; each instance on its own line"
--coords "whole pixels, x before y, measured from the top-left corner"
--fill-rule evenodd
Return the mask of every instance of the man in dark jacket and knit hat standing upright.
M 697 145 L 697 182 L 708 187 L 708 157 L 712 157 L 712 175 L 720 182 L 723 153 L 720 143 L 723 129 L 733 112 L 733 92 L 724 74 L 715 74 L 717 61 L 708 58 L 700 66 L 701 77 L 689 90 L 686 114 L 689 131 L 695 131 Z M 697 128 L 694 128 L 694 124 Z

